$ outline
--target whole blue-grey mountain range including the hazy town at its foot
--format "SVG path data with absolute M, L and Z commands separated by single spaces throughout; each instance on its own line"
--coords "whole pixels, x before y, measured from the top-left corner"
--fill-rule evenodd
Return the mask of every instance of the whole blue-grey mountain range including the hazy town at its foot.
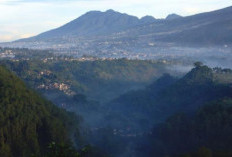
M 150 53 L 170 45 L 227 47 L 232 43 L 231 34 L 232 7 L 187 17 L 170 14 L 166 19 L 139 19 L 108 10 L 91 11 L 59 28 L 0 46 L 112 56 L 121 52 Z

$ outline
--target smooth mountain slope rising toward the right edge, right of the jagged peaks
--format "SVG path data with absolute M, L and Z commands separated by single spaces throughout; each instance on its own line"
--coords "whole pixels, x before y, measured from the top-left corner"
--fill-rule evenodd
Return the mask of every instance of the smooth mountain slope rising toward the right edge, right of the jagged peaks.
M 149 38 L 150 41 L 172 42 L 181 45 L 220 45 L 232 42 L 232 7 L 178 18 L 160 20 L 128 30 L 125 35 Z

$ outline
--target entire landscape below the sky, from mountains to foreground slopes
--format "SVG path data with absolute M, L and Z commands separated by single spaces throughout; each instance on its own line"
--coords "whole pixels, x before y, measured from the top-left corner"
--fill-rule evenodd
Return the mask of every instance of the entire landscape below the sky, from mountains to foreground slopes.
M 231 157 L 231 15 L 90 11 L 0 43 L 0 157 Z

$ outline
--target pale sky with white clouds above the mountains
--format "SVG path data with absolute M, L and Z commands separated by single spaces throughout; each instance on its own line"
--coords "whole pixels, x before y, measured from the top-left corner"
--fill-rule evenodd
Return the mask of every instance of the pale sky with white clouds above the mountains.
M 92 10 L 142 17 L 189 16 L 232 6 L 232 0 L 0 0 L 0 42 L 57 28 Z

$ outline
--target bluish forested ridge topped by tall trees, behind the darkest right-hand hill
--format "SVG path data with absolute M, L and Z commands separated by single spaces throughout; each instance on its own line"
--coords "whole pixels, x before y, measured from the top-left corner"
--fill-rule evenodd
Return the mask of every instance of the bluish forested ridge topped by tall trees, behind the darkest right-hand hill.
M 164 75 L 143 90 L 128 92 L 115 99 L 110 108 L 125 119 L 149 124 L 162 122 L 176 112 L 192 114 L 204 103 L 224 97 L 232 97 L 230 84 L 214 81 L 213 70 L 200 64 L 181 79 Z

